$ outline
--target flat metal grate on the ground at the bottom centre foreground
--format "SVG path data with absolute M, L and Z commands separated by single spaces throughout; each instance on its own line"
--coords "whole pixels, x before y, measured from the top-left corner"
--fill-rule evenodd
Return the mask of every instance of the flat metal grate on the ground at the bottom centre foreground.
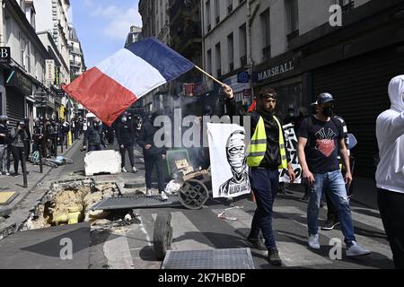
M 167 251 L 162 269 L 255 269 L 250 248 Z

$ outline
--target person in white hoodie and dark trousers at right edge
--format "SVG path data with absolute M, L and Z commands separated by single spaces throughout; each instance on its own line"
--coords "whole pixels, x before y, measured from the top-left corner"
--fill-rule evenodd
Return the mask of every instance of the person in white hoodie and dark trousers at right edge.
M 380 162 L 376 171 L 378 204 L 394 265 L 404 269 L 404 75 L 389 84 L 391 109 L 376 122 Z

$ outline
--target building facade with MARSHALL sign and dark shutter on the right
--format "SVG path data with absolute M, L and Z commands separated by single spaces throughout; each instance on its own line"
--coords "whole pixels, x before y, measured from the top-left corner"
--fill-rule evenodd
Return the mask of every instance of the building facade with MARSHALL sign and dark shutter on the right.
M 332 93 L 338 115 L 359 142 L 356 174 L 373 177 L 376 117 L 390 106 L 390 79 L 404 70 L 404 3 L 203 0 L 201 4 L 206 71 L 233 83 L 242 104 L 250 103 L 259 91 L 275 88 L 281 117 L 288 108 L 309 109 L 322 91 Z M 330 12 L 335 4 L 338 10 Z M 341 17 L 340 26 L 332 22 L 336 15 Z M 246 71 L 250 85 L 241 76 Z

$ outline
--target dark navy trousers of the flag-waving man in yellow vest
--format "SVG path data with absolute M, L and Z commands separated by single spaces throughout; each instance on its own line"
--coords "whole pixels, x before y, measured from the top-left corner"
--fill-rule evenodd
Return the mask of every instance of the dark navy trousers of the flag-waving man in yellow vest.
M 250 170 L 250 183 L 254 192 L 257 209 L 251 222 L 250 238 L 257 239 L 259 230 L 265 239 L 265 246 L 276 248 L 277 243 L 272 229 L 272 210 L 277 188 L 279 187 L 278 170 Z

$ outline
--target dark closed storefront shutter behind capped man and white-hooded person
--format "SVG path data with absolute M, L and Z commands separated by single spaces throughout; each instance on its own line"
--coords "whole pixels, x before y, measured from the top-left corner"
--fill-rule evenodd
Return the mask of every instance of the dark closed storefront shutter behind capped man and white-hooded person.
M 333 94 L 338 116 L 346 120 L 349 133 L 357 138 L 353 154 L 358 176 L 374 177 L 374 158 L 378 155 L 375 123 L 391 106 L 388 85 L 399 74 L 404 74 L 404 53 L 398 48 L 385 48 L 313 71 L 313 97 L 324 91 Z

